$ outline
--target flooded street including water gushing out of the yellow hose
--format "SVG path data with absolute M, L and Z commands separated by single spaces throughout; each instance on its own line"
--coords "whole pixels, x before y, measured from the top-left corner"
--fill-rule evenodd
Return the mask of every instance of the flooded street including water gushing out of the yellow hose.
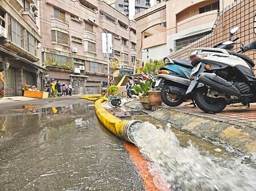
M 130 119 L 144 121 L 131 129 L 130 137 L 150 161 L 142 169 L 152 176 L 154 190 L 255 190 L 253 155 L 197 138 L 147 115 Z M 98 121 L 94 104 L 85 99 L 65 97 L 0 107 L 0 133 L 1 191 L 146 190 L 133 154 Z

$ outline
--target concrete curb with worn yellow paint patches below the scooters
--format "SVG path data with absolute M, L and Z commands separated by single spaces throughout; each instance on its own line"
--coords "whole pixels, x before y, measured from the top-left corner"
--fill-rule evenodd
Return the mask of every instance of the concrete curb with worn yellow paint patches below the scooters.
M 164 106 L 144 104 L 154 112 L 151 117 L 170 123 L 171 126 L 212 141 L 229 145 L 241 152 L 256 154 L 256 129 L 248 126 L 218 121 L 217 118 L 196 116 L 192 112 L 179 111 Z

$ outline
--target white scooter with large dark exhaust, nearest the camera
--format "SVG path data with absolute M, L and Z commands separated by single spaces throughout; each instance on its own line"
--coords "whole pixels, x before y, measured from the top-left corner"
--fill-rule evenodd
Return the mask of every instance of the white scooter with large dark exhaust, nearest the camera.
M 228 41 L 225 44 L 232 43 Z M 242 45 L 238 52 L 218 48 L 189 50 L 189 60 L 195 67 L 191 71 L 192 82 L 186 94 L 192 94 L 204 112 L 218 113 L 232 103 L 255 103 L 254 63 L 240 54 L 253 49 L 256 49 L 256 40 Z

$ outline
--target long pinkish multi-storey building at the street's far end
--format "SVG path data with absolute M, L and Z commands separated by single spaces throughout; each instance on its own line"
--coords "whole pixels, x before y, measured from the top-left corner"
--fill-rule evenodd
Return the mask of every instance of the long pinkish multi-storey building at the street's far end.
M 112 33 L 110 59 L 116 58 L 121 68 L 134 69 L 135 22 L 105 1 L 45 0 L 39 5 L 42 65 L 50 70 L 49 78 L 71 82 L 75 94 L 98 92 L 107 80 L 102 29 Z

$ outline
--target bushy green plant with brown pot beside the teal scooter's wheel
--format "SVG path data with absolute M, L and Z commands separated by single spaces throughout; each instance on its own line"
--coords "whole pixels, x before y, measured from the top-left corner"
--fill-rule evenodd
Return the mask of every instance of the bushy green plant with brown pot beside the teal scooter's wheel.
M 157 60 L 148 60 L 148 62 L 145 64 L 145 66 L 143 67 L 142 69 L 142 72 L 143 74 L 146 74 L 146 75 L 149 75 L 150 77 L 150 80 L 152 83 L 153 82 L 153 77 L 154 75 L 158 74 L 158 71 L 160 69 L 160 67 L 163 67 L 164 66 L 164 62 L 159 62 Z M 148 100 L 149 100 L 149 103 L 151 105 L 161 105 L 162 104 L 162 99 L 161 99 L 161 95 L 160 95 L 160 90 L 159 88 L 156 89 L 155 91 L 151 91 L 149 90 L 148 91 Z

